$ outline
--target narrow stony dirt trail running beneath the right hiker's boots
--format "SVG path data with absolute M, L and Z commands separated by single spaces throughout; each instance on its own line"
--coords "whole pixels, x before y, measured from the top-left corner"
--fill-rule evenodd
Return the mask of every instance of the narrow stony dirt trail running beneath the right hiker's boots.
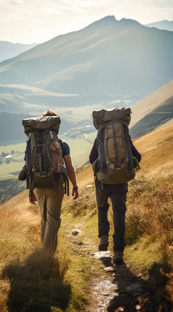
M 132 271 L 128 263 L 122 266 L 113 265 L 111 252 L 91 253 L 91 246 L 94 245 L 91 240 L 88 242 L 83 239 L 79 245 L 77 241 L 80 240 L 83 231 L 83 225 L 76 224 L 76 235 L 72 235 L 72 231 L 68 230 L 68 236 L 77 254 L 88 255 L 96 261 L 97 270 L 88 280 L 91 293 L 86 312 L 115 312 L 119 307 L 124 307 L 126 312 L 133 312 L 136 311 L 140 296 L 148 298 L 145 305 L 146 312 L 154 312 L 156 304 L 150 299 L 153 296 L 149 282 L 142 278 L 140 272 Z M 93 246 L 93 249 L 96 250 L 96 247 Z

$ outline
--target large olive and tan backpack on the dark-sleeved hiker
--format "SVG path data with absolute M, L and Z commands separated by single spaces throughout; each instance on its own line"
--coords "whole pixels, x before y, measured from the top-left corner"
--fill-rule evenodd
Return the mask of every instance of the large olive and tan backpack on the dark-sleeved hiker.
M 98 130 L 98 159 L 92 169 L 95 177 L 106 184 L 126 183 L 135 178 L 137 159 L 132 157 L 129 128 L 130 108 L 94 110 L 93 124 Z

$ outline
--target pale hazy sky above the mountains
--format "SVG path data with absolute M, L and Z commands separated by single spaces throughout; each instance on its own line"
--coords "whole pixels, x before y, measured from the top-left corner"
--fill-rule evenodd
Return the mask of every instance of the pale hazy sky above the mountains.
M 0 0 L 0 40 L 43 42 L 106 15 L 141 24 L 173 20 L 173 0 Z

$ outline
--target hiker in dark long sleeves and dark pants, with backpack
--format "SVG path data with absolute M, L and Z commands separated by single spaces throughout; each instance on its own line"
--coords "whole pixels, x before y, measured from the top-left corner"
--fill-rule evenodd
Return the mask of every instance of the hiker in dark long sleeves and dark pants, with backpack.
M 111 198 L 114 234 L 113 262 L 122 264 L 125 247 L 126 194 L 129 181 L 135 178 L 141 154 L 131 141 L 128 125 L 130 108 L 95 110 L 93 124 L 98 130 L 89 156 L 95 176 L 98 208 L 99 251 L 107 251 L 110 224 L 107 218 L 108 198 Z M 140 168 L 140 167 L 139 167 Z

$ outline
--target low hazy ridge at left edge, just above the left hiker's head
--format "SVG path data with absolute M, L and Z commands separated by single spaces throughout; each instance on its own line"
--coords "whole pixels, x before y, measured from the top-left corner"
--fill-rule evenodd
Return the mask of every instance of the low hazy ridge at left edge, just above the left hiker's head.
M 81 98 L 78 94 L 49 92 L 35 86 L 0 85 L 0 110 L 33 113 L 48 107 L 69 107 Z

